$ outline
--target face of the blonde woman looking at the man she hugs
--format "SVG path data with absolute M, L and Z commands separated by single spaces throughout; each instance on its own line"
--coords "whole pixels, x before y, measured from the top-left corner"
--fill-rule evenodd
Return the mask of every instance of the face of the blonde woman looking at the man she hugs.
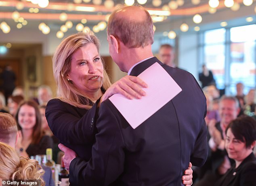
M 85 94 L 94 94 L 100 90 L 103 83 L 103 64 L 94 44 L 82 46 L 73 53 L 67 78 Z

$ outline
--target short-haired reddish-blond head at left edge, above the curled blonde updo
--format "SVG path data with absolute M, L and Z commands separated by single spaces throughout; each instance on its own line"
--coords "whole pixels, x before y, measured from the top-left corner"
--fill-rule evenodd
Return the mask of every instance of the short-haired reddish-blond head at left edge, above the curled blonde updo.
M 14 117 L 8 113 L 0 113 L 0 142 L 15 147 L 17 131 Z

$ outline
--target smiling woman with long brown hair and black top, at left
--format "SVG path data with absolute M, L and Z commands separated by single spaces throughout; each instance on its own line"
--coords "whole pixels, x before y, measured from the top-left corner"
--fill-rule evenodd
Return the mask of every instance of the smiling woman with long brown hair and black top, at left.
M 20 130 L 16 147 L 22 156 L 44 155 L 46 148 L 53 148 L 52 138 L 43 135 L 41 114 L 35 101 L 21 102 L 15 119 Z

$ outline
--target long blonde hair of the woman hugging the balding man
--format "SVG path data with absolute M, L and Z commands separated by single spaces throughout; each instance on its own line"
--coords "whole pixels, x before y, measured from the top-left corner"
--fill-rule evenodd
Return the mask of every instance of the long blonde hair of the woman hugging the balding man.
M 78 90 L 71 81 L 67 80 L 67 74 L 71 69 L 73 53 L 78 48 L 90 43 L 94 44 L 99 52 L 100 42 L 96 36 L 82 32 L 68 36 L 59 44 L 52 59 L 53 75 L 58 87 L 60 99 L 75 107 L 84 109 L 90 109 L 92 107 L 91 100 L 85 97 L 84 93 Z M 102 88 L 107 90 L 110 85 L 109 77 L 104 69 Z

